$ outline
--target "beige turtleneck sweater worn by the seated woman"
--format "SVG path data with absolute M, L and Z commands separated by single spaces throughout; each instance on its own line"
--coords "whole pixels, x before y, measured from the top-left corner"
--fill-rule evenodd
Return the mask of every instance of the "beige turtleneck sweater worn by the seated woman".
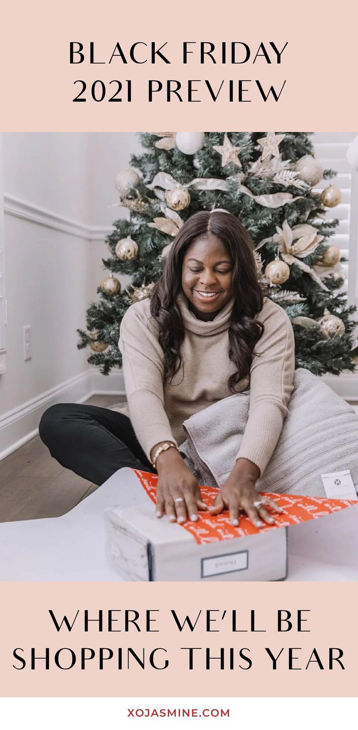
M 183 293 L 178 304 L 185 326 L 183 365 L 172 383 L 163 383 L 164 355 L 150 300 L 132 304 L 121 323 L 119 348 L 129 416 L 148 458 L 159 442 L 183 443 L 184 420 L 232 395 L 227 387 L 229 376 L 236 372 L 228 356 L 232 300 L 211 322 L 195 317 Z M 256 319 L 264 324 L 264 334 L 254 349 L 250 382 L 245 378 L 235 388 L 242 392 L 250 387 L 248 423 L 237 458 L 253 461 L 262 475 L 281 434 L 293 389 L 294 334 L 286 312 L 270 299 L 264 299 Z

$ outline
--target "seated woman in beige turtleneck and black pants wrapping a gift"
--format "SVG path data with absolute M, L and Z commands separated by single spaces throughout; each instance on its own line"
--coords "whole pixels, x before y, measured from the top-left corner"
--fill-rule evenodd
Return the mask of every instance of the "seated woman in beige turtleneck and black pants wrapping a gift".
M 243 441 L 211 512 L 229 508 L 236 526 L 241 511 L 255 526 L 273 523 L 266 508 L 281 510 L 255 484 L 287 413 L 294 336 L 286 313 L 262 295 L 251 239 L 235 216 L 203 211 L 184 223 L 151 299 L 124 315 L 119 347 L 130 419 L 52 406 L 39 426 L 52 456 L 97 484 L 121 466 L 156 470 L 157 517 L 196 521 L 206 507 L 178 450 L 183 421 L 250 385 Z

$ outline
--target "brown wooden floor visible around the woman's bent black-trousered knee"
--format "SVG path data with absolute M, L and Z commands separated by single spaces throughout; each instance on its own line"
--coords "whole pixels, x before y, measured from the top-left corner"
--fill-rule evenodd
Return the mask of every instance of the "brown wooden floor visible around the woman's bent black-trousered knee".
M 88 404 L 109 407 L 121 396 L 94 396 Z M 0 461 L 0 522 L 59 517 L 96 485 L 64 469 L 39 436 Z

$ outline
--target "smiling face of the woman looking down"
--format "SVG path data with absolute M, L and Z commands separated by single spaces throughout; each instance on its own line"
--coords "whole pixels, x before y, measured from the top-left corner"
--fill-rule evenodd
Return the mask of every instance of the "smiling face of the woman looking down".
M 194 239 L 183 258 L 182 288 L 199 319 L 210 319 L 232 297 L 232 260 L 221 238 Z

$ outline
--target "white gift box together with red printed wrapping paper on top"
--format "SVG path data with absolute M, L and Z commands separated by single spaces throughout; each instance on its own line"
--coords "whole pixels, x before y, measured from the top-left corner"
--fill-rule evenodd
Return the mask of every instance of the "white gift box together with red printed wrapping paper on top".
M 121 493 L 121 507 L 105 510 L 106 555 L 123 580 L 283 580 L 288 572 L 288 528 L 327 517 L 357 500 L 266 493 L 282 507 L 275 524 L 258 529 L 244 515 L 234 527 L 228 512 L 199 513 L 197 522 L 156 518 L 158 477 L 137 479 Z M 122 487 L 123 489 L 123 487 Z M 201 487 L 210 507 L 217 490 Z

